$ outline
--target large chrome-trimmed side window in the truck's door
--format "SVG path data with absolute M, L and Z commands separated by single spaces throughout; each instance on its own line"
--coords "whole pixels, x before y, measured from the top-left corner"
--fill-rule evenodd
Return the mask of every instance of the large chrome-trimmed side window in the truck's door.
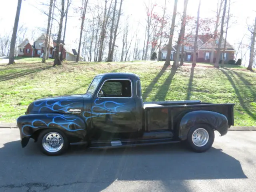
M 100 92 L 101 97 L 132 97 L 132 85 L 130 80 L 107 80 Z

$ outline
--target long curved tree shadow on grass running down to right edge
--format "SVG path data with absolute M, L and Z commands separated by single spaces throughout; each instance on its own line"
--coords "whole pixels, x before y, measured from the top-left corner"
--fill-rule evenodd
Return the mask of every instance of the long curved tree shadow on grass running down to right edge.
M 228 78 L 229 82 L 231 83 L 232 87 L 234 88 L 235 92 L 236 92 L 236 95 L 237 95 L 237 98 L 239 100 L 239 103 L 240 103 L 240 106 L 246 111 L 246 113 L 251 116 L 254 120 L 256 120 L 256 115 L 253 114 L 250 109 L 248 108 L 248 106 L 246 106 L 246 103 L 244 102 L 244 98 L 243 96 L 241 95 L 240 91 L 239 91 L 239 88 L 236 86 L 236 84 L 238 85 L 239 82 L 236 80 L 236 78 L 232 78 L 230 76 L 231 74 L 231 71 L 228 70 L 229 74 L 225 71 L 225 70 L 222 70 L 220 69 L 220 71 L 226 75 L 226 77 Z M 232 74 L 231 74 L 232 75 Z M 236 83 L 234 82 L 234 80 L 236 81 Z

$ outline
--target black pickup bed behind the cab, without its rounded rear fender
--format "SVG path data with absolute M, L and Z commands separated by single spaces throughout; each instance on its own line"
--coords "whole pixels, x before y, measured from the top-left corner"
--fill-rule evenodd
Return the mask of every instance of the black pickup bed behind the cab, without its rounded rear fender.
M 145 131 L 172 130 L 191 111 L 205 110 L 223 114 L 229 126 L 234 125 L 234 104 L 212 104 L 200 100 L 144 102 Z

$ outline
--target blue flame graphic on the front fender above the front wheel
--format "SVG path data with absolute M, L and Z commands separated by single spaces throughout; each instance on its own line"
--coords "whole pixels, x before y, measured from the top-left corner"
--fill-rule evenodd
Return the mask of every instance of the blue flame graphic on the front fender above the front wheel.
M 21 130 L 22 130 L 22 133 L 25 135 L 25 136 L 31 136 L 31 135 L 28 135 L 28 134 L 25 134 L 24 133 L 24 128 L 25 127 L 32 127 L 32 128 L 40 128 L 40 127 L 43 127 L 43 126 L 34 126 L 34 122 L 42 122 L 42 124 L 44 124 L 45 126 L 49 127 L 50 124 L 56 124 L 64 129 L 66 129 L 67 131 L 71 131 L 71 132 L 75 132 L 75 131 L 79 131 L 79 130 L 84 130 L 84 129 L 76 129 L 76 130 L 73 130 L 73 129 L 70 129 L 70 125 L 76 125 L 76 126 L 79 126 L 81 127 L 80 125 L 74 123 L 75 120 L 77 120 L 77 118 L 74 118 L 74 117 L 70 117 L 70 116 L 67 116 L 67 115 L 61 115 L 61 114 L 54 114 L 54 115 L 49 115 L 49 114 L 46 114 L 46 116 L 48 118 L 52 118 L 52 120 L 49 122 L 49 123 L 46 123 L 44 122 L 43 120 L 40 120 L 40 119 L 35 119 L 33 120 L 30 124 L 26 124 L 24 126 L 22 126 Z M 63 120 L 65 122 L 63 122 Z M 60 121 L 60 122 L 58 122 Z

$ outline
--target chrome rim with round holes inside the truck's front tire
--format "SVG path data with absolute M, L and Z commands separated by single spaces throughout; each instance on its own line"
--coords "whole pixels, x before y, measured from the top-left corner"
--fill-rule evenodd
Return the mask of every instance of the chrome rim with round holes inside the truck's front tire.
M 50 132 L 44 135 L 42 139 L 43 148 L 48 152 L 58 152 L 64 145 L 64 140 L 61 134 Z

